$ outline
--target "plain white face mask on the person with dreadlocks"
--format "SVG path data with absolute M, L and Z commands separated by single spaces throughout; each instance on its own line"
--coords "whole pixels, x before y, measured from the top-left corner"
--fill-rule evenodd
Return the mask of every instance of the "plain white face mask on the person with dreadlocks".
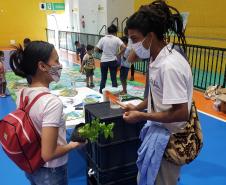
M 144 40 L 145 40 L 145 38 L 144 38 Z M 140 41 L 140 42 L 137 42 L 135 44 L 132 44 L 132 48 L 134 49 L 136 55 L 140 59 L 150 58 L 150 47 L 151 47 L 151 44 L 150 44 L 148 49 L 144 48 L 144 46 L 143 46 L 144 40 Z

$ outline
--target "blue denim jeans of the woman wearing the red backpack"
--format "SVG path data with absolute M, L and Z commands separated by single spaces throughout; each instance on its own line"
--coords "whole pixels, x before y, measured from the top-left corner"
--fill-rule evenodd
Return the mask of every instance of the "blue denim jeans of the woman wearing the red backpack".
M 68 185 L 67 165 L 56 168 L 42 167 L 32 174 L 25 175 L 31 185 Z

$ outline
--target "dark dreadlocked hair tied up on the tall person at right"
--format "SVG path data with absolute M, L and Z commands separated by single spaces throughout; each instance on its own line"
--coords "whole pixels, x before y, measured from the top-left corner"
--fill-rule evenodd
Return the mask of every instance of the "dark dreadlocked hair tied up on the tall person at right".
M 173 33 L 186 51 L 182 16 L 176 8 L 167 5 L 163 0 L 156 0 L 149 5 L 141 6 L 128 19 L 126 27 L 138 30 L 143 36 L 154 32 L 159 40 L 169 40 L 170 33 Z M 174 37 L 173 47 L 175 42 Z

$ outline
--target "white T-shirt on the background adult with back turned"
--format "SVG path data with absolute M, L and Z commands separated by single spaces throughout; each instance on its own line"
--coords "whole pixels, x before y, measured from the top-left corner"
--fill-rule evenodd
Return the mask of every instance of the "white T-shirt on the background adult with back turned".
M 123 45 L 121 39 L 114 35 L 106 35 L 102 37 L 96 45 L 97 48 L 103 50 L 101 62 L 117 60 L 116 56 L 121 45 Z

